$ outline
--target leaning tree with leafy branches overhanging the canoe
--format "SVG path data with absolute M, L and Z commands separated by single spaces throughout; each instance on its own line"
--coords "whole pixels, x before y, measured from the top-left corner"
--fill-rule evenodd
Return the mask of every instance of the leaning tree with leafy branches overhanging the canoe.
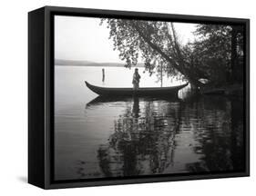
M 114 50 L 118 50 L 127 67 L 136 65 L 141 54 L 149 73 L 156 68 L 196 86 L 202 84 L 198 81 L 200 73 L 191 72 L 191 48 L 179 44 L 172 23 L 113 18 L 102 19 L 104 21 L 110 29 L 109 39 L 113 40 Z

